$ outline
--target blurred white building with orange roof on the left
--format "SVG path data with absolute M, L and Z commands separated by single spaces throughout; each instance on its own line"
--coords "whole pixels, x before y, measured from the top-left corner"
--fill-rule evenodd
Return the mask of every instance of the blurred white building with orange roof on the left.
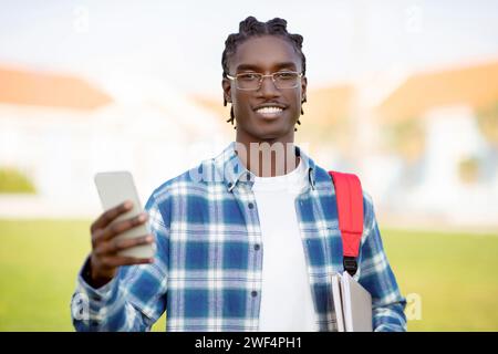
M 93 176 L 102 170 L 131 170 L 145 202 L 153 188 L 224 144 L 221 124 L 148 77 L 91 84 L 0 69 L 0 167 L 19 169 L 37 188 L 35 196 L 0 196 L 0 215 L 95 215 Z

